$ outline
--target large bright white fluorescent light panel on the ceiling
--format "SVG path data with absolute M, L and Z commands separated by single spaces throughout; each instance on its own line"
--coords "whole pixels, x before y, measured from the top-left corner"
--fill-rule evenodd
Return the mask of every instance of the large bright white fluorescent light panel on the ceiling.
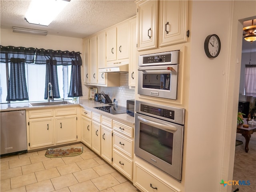
M 70 0 L 32 0 L 25 20 L 31 24 L 48 26 Z

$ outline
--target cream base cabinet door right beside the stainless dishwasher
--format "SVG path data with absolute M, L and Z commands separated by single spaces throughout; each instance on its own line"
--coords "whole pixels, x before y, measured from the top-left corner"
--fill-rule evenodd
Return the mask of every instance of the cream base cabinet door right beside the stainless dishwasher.
M 30 148 L 54 144 L 53 118 L 30 120 Z

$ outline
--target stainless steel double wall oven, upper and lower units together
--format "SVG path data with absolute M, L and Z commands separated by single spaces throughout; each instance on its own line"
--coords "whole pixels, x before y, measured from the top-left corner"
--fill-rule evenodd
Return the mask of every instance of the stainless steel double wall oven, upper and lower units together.
M 139 56 L 138 94 L 176 100 L 178 65 L 179 50 Z M 181 181 L 185 109 L 142 100 L 135 102 L 134 153 Z

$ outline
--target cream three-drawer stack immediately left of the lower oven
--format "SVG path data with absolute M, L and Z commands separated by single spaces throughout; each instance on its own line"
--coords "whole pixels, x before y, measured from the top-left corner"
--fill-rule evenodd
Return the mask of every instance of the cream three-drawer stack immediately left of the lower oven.
M 132 181 L 133 128 L 113 120 L 113 166 Z

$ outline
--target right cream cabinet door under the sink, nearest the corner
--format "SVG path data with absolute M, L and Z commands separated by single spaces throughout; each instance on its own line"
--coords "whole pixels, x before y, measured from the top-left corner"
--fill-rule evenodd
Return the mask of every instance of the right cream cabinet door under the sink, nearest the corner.
M 76 140 L 76 116 L 56 118 L 56 144 Z

